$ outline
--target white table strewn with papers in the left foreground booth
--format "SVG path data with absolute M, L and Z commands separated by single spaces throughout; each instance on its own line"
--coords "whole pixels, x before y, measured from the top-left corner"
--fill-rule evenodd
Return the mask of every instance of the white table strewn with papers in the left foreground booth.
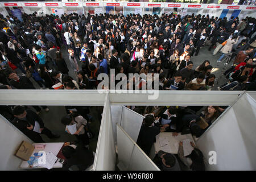
M 60 148 L 63 146 L 64 142 L 59 142 L 59 143 L 33 143 L 32 145 L 35 146 L 36 144 L 46 144 L 46 146 L 44 147 L 44 151 L 49 152 L 51 151 L 54 155 L 57 155 L 60 151 Z M 34 152 L 39 152 L 39 150 L 34 150 L 32 155 L 34 154 Z M 23 161 L 19 168 L 22 169 L 40 169 L 40 168 L 44 168 L 44 167 L 30 167 L 29 164 L 27 163 L 27 161 Z M 59 162 L 56 162 L 53 166 L 53 168 L 62 168 L 62 164 Z

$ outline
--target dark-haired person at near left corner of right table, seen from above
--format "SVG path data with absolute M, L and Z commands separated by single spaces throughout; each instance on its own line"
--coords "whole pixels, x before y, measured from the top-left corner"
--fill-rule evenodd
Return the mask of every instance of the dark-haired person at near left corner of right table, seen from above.
M 180 171 L 180 164 L 176 156 L 168 152 L 158 151 L 153 161 L 161 171 Z

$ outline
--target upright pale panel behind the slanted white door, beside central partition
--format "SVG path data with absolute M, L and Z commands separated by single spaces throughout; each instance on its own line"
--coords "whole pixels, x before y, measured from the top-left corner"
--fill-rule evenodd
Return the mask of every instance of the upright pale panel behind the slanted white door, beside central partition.
M 143 115 L 123 106 L 121 126 L 135 142 L 137 142 L 143 119 Z

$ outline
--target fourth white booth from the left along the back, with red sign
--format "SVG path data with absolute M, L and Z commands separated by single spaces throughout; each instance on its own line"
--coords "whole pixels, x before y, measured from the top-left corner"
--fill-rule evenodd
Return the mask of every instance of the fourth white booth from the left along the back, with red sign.
M 82 2 L 63 2 L 62 6 L 64 13 L 77 13 L 79 15 L 84 14 L 84 7 L 82 6 Z

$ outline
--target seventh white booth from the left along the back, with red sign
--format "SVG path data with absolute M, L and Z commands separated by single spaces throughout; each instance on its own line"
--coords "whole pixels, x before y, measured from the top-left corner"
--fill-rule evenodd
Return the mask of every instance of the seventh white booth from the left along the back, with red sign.
M 143 3 L 142 2 L 125 2 L 124 15 L 128 14 L 143 14 Z

